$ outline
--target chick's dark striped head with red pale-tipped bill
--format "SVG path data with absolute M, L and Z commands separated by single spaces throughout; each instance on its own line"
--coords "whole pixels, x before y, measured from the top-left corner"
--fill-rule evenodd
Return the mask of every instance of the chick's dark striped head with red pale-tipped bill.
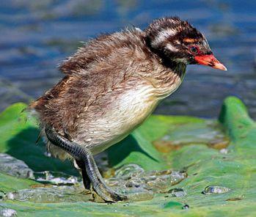
M 227 70 L 213 56 L 205 36 L 180 18 L 161 18 L 145 29 L 147 45 L 165 62 L 208 65 Z

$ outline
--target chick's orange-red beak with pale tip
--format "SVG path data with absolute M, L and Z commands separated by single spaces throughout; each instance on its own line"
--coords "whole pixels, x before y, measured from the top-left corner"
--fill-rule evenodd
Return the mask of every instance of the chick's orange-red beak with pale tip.
M 208 65 L 218 70 L 224 70 L 227 71 L 227 68 L 219 62 L 218 59 L 211 55 L 202 55 L 202 56 L 194 56 L 194 59 L 197 61 L 200 65 Z

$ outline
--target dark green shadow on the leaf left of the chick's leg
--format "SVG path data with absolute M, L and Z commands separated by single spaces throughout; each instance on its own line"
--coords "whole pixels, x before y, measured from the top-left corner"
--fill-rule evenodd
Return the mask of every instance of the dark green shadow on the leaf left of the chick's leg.
M 24 161 L 34 172 L 54 171 L 78 175 L 70 161 L 60 161 L 56 158 L 49 158 L 45 155 L 45 144 L 40 139 L 36 144 L 39 130 L 27 128 L 16 134 L 9 141 L 7 154 Z

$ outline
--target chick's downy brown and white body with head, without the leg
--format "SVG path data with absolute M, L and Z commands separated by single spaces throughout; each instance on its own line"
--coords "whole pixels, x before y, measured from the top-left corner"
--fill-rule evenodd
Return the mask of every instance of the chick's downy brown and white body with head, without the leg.
M 207 64 L 202 56 L 208 56 Z M 209 56 L 205 37 L 179 18 L 156 20 L 145 31 L 104 34 L 63 62 L 59 69 L 65 77 L 30 108 L 37 111 L 43 128 L 51 125 L 96 154 L 127 136 L 172 94 L 187 64 L 221 69 Z M 68 157 L 53 144 L 48 150 Z

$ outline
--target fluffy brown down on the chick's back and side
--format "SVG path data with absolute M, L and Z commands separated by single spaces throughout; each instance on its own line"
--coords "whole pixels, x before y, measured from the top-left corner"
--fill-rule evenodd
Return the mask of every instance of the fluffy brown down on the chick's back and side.
M 139 63 L 135 59 L 143 54 L 137 52 L 142 48 L 139 43 L 143 43 L 138 35 L 137 39 L 131 32 L 104 35 L 80 48 L 60 67 L 66 74 L 62 81 L 35 100 L 30 108 L 37 111 L 43 123 L 56 130 L 75 131 L 81 112 L 100 96 L 120 88 L 136 73 Z

